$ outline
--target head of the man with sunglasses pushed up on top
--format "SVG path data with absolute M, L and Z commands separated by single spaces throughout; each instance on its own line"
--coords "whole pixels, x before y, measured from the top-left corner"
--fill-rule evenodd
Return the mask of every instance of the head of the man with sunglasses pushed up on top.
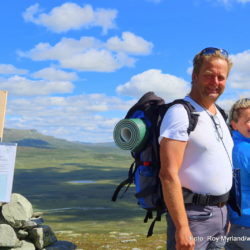
M 232 62 L 227 51 L 206 48 L 193 60 L 191 97 L 208 108 L 223 93 Z

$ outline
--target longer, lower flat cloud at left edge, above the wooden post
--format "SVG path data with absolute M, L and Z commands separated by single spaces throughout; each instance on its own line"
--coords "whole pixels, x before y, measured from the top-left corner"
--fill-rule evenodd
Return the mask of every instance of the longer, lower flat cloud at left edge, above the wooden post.
M 73 88 L 73 84 L 68 81 L 34 81 L 17 75 L 0 79 L 0 89 L 7 90 L 9 94 L 17 96 L 70 93 Z

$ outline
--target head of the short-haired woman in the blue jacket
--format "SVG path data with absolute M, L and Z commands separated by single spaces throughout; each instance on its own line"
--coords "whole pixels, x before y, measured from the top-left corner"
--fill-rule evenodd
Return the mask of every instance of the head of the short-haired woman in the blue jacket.
M 242 98 L 231 108 L 229 122 L 233 130 L 239 131 L 243 136 L 250 138 L 250 99 Z

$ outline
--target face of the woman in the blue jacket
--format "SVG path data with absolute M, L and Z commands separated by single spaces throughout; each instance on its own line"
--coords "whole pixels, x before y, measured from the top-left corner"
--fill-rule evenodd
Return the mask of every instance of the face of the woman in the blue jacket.
M 250 108 L 241 109 L 238 121 L 232 121 L 231 125 L 234 130 L 238 130 L 242 135 L 250 138 Z

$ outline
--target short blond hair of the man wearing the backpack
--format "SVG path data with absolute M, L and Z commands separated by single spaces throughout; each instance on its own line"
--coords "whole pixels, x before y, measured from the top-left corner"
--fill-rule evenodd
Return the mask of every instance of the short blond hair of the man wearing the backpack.
M 205 60 L 209 60 L 210 58 L 221 58 L 227 62 L 228 65 L 228 72 L 227 76 L 229 75 L 229 72 L 233 66 L 232 61 L 223 55 L 220 50 L 216 50 L 213 54 L 203 54 L 202 51 L 199 52 L 193 59 L 193 73 L 194 74 L 199 74 L 200 68 L 202 64 L 204 63 Z

